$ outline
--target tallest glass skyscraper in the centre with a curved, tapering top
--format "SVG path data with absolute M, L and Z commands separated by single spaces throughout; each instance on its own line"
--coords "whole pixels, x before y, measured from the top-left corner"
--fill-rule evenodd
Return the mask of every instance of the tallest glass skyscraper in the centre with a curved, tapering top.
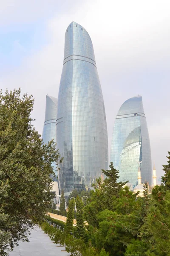
M 59 166 L 60 189 L 65 195 L 73 189 L 89 189 L 101 169 L 108 169 L 108 134 L 93 44 L 75 22 L 65 32 L 56 134 L 64 157 Z

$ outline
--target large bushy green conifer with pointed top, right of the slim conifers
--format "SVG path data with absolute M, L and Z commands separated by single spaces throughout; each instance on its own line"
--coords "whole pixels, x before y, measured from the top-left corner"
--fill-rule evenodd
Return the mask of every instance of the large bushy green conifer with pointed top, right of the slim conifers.
M 127 244 L 139 235 L 145 203 L 142 198 L 136 200 L 136 194 L 125 183 L 117 182 L 118 173 L 112 167 L 105 172 L 106 182 L 97 180 L 90 203 L 85 206 L 85 217 L 92 244 L 109 255 L 123 256 Z

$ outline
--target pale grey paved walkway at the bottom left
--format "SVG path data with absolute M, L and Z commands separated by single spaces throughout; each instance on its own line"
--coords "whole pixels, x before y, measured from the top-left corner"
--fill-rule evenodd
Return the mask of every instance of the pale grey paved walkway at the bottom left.
M 9 256 L 69 256 L 65 247 L 58 247 L 51 239 L 38 227 L 31 230 L 28 242 L 20 242 L 20 246 L 9 252 Z

